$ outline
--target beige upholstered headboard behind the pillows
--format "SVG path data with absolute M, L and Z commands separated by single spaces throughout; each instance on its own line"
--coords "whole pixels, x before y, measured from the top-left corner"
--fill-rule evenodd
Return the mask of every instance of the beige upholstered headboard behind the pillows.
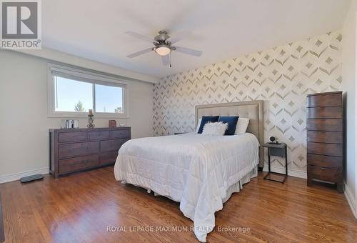
M 264 166 L 263 101 L 242 101 L 223 104 L 202 104 L 196 106 L 196 127 L 201 116 L 241 116 L 249 118 L 247 132 L 256 135 L 259 144 L 259 167 Z

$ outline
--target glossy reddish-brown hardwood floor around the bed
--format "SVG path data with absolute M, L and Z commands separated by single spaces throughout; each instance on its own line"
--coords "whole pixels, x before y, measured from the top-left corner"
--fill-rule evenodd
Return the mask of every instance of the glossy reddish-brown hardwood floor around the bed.
M 113 167 L 29 184 L 9 182 L 0 184 L 0 192 L 5 242 L 197 242 L 189 230 L 193 222 L 178 203 L 116 182 Z M 111 226 L 121 228 L 108 232 Z M 176 231 L 165 228 L 170 226 Z M 280 184 L 259 174 L 216 212 L 216 228 L 207 240 L 356 242 L 356 237 L 357 221 L 343 194 L 306 187 L 304 179 L 288 177 Z

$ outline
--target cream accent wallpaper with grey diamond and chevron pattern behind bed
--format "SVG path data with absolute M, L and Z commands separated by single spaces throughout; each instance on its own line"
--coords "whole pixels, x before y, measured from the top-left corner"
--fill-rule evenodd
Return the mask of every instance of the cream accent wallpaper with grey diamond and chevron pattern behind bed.
M 286 142 L 289 169 L 306 173 L 306 94 L 341 90 L 341 39 L 333 31 L 160 79 L 154 134 L 193 131 L 197 104 L 262 99 L 266 141 Z

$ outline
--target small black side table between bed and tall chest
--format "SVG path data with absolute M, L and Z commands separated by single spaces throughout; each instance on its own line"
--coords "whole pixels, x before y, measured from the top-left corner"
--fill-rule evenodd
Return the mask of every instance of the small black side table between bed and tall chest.
M 284 183 L 286 180 L 286 177 L 288 177 L 288 147 L 284 143 L 276 144 L 276 143 L 266 143 L 263 145 L 264 148 L 268 148 L 268 174 L 264 177 L 264 179 L 268 179 L 273 182 L 281 182 Z M 276 173 L 276 172 L 271 172 L 271 156 L 279 156 L 279 157 L 285 157 L 285 163 L 286 163 L 286 172 L 285 174 L 281 173 Z M 271 179 L 269 178 L 271 174 L 281 174 L 284 176 L 284 179 L 282 181 L 276 180 L 276 179 Z

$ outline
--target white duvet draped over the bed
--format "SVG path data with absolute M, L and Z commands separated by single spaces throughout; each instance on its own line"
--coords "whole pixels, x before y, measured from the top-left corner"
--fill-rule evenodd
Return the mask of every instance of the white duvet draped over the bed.
M 118 181 L 180 202 L 181 212 L 194 222 L 196 237 L 206 242 L 229 189 L 258 164 L 258 147 L 258 139 L 248 133 L 131 139 L 119 149 L 114 174 Z

